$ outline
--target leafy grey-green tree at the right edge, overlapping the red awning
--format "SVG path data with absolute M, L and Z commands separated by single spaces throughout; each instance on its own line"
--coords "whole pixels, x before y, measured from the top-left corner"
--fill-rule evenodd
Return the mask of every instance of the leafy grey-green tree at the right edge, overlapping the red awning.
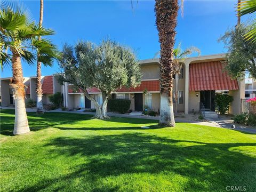
M 250 43 L 243 38 L 251 29 L 251 25 L 241 24 L 227 30 L 219 39 L 228 50 L 225 69 L 231 78 L 243 78 L 247 71 L 256 79 L 256 43 Z

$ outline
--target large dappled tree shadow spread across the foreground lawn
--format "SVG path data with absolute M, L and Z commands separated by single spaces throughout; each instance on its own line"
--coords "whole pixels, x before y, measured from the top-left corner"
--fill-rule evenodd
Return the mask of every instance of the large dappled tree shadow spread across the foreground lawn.
M 75 189 L 79 185 L 84 185 L 83 190 L 86 191 L 89 190 L 87 186 L 91 186 L 92 191 L 119 188 L 134 191 L 141 189 L 141 181 L 159 191 L 166 190 L 166 187 L 170 191 L 226 191 L 226 186 L 246 186 L 246 191 L 256 189 L 256 158 L 239 152 L 239 149 L 234 150 L 236 147 L 254 147 L 256 143 L 205 143 L 144 133 L 124 133 L 59 137 L 45 147 L 49 146 L 54 147 L 48 151 L 55 154 L 52 159 L 65 156 L 67 161 L 71 161 L 76 155 L 86 159 L 86 163 L 81 160 L 83 163 L 70 167 L 70 170 L 75 170 L 73 173 L 55 179 L 42 179 L 21 191 L 55 190 L 56 186 Z M 115 185 L 106 183 L 109 177 L 115 180 Z M 120 177 L 125 177 L 126 182 L 123 183 Z M 172 183 L 169 185 L 173 188 L 166 186 L 168 183 Z

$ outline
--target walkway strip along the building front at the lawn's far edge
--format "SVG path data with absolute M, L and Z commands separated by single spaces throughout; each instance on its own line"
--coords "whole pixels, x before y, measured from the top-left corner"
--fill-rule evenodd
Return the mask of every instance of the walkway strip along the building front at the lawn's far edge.
M 1 107 L 1 109 L 14 109 L 13 107 Z M 27 112 L 36 112 L 36 108 L 26 108 Z M 50 110 L 46 111 L 46 113 L 73 113 L 73 114 L 84 114 L 84 115 L 94 115 L 95 113 L 93 112 L 81 112 L 81 111 L 62 111 L 61 109 L 55 109 L 55 110 Z M 159 116 L 146 116 L 146 115 L 130 115 L 130 114 L 117 114 L 113 112 L 107 113 L 108 116 L 111 117 L 127 117 L 127 118 L 142 118 L 142 119 L 154 119 L 154 120 L 159 120 Z M 202 121 L 196 121 L 196 120 L 191 120 L 186 117 L 175 117 L 175 122 L 179 123 L 192 123 L 192 124 L 197 124 L 197 125 L 206 125 L 206 126 L 213 126 L 213 127 L 222 127 L 226 129 L 231 129 L 231 125 L 234 124 L 233 120 L 231 119 L 223 119 L 223 118 L 218 118 L 216 116 L 207 116 L 205 118 L 205 122 Z M 243 131 L 243 132 L 249 132 L 249 133 L 255 133 L 256 134 L 256 127 L 255 129 L 247 126 L 242 126 L 235 124 L 235 130 L 237 131 Z

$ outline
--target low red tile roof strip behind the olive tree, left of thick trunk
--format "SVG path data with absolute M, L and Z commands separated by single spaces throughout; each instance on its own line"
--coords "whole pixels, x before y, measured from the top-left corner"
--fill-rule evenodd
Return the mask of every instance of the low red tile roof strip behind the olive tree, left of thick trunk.
M 122 87 L 121 89 L 116 90 L 116 92 L 143 92 L 145 89 L 147 91 L 160 91 L 160 82 L 159 80 L 150 80 L 150 81 L 142 81 L 140 86 L 135 88 L 127 88 Z M 87 89 L 89 93 L 100 93 L 96 87 L 92 87 L 91 89 Z M 73 93 L 72 85 L 68 86 L 68 92 Z M 82 90 L 79 90 L 77 93 L 82 93 Z

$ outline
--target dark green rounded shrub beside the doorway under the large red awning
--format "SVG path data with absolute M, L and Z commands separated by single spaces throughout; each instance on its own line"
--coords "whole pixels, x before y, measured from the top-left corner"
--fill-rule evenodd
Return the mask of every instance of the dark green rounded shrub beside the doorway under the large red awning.
M 232 101 L 233 101 L 233 97 L 228 94 L 216 94 L 215 95 L 216 107 L 219 107 L 218 111 L 220 112 L 220 114 L 227 113 L 227 111 L 229 109 L 230 102 L 232 102 Z

